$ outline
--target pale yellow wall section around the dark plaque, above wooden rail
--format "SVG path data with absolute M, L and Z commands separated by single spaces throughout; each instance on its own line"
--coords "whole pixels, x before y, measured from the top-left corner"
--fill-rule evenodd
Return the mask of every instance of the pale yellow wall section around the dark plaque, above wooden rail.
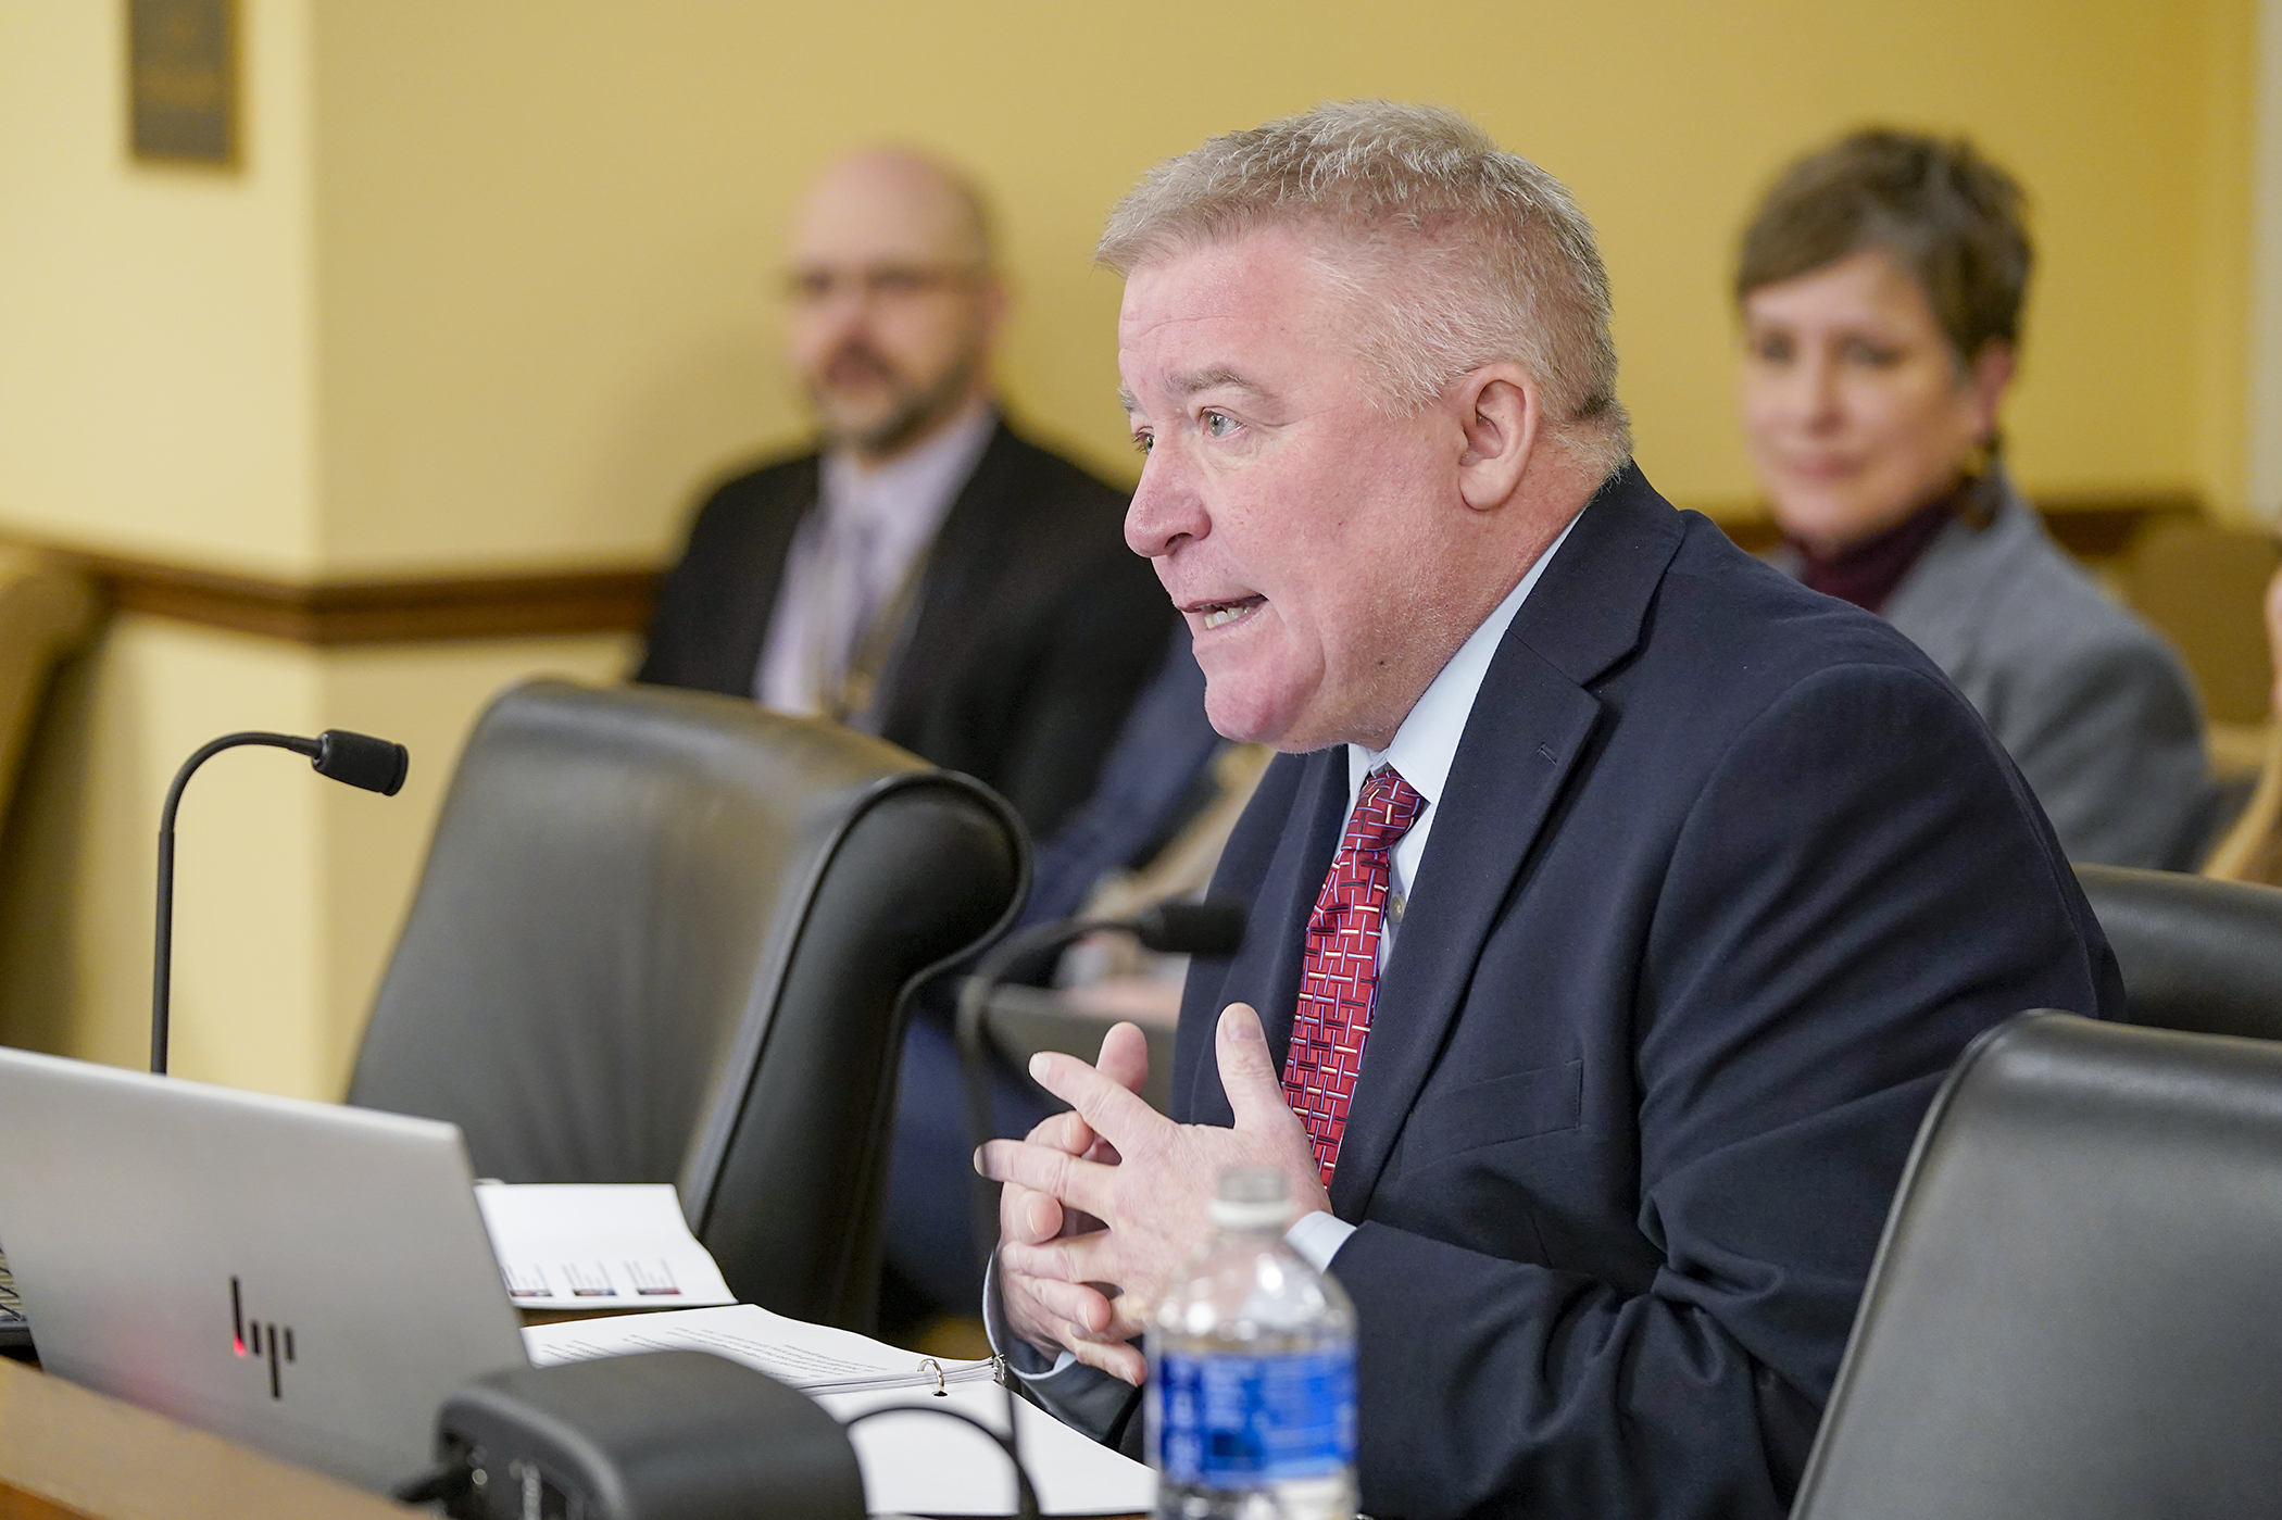
M 215 173 L 128 160 L 123 5 L 0 0 L 0 525 L 317 568 L 306 9 L 246 0 Z

